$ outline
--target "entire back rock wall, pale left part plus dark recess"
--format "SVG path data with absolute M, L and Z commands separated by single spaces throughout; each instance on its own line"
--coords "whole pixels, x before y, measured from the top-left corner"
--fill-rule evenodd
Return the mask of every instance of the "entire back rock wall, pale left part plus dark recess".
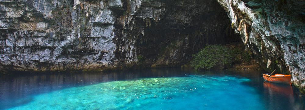
M 238 41 L 215 0 L 0 0 L 0 69 L 174 67 Z

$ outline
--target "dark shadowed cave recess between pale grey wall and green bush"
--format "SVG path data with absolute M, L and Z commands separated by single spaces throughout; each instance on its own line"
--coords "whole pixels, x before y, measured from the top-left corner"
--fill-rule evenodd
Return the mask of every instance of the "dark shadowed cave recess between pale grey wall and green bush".
M 132 51 L 136 56 L 131 57 L 138 65 L 178 67 L 207 44 L 241 42 L 228 15 L 215 0 L 148 1 L 142 5 L 125 26 L 117 15 L 114 42 L 120 62 L 130 61 L 126 57 Z

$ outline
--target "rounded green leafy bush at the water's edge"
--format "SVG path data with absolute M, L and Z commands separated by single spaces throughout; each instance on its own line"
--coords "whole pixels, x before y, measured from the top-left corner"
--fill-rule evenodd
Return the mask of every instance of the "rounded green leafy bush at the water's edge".
M 242 48 L 228 48 L 221 45 L 207 45 L 198 53 L 192 55 L 191 66 L 195 70 L 225 68 L 233 62 L 249 62 L 251 57 Z

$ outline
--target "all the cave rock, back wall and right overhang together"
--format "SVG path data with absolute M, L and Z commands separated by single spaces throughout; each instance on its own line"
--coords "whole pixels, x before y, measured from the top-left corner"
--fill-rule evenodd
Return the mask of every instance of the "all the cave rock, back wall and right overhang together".
M 305 9 L 300 1 L 0 4 L 2 73 L 179 67 L 206 44 L 242 42 L 260 68 L 290 74 L 292 83 L 304 88 Z

